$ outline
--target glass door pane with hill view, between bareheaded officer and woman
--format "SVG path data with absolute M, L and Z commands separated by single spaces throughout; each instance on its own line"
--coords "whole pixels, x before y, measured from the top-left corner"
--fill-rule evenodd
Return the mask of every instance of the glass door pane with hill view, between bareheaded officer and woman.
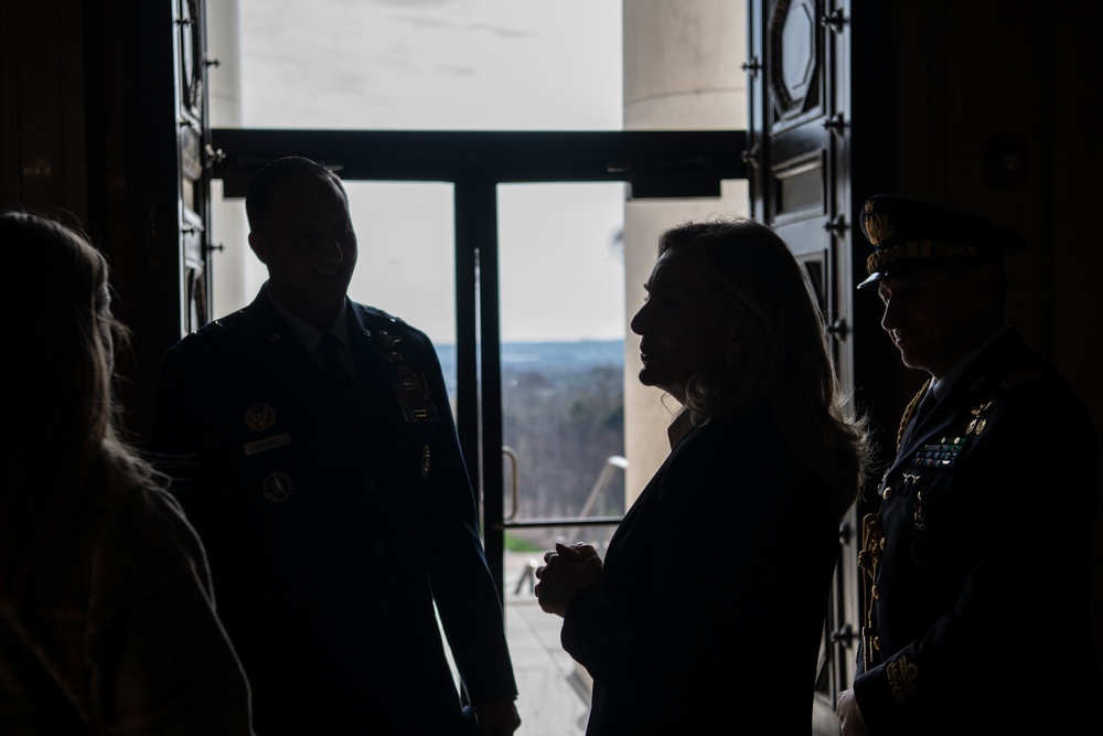
M 624 190 L 497 186 L 503 598 L 527 733 L 581 734 L 590 693 L 533 572 L 557 541 L 604 546 L 624 513 Z

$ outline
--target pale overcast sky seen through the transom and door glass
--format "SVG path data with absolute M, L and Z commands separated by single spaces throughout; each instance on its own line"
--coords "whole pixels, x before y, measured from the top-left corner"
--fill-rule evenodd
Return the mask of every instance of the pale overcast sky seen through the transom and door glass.
M 242 124 L 620 129 L 620 6 L 242 0 Z M 363 183 L 350 200 L 351 296 L 451 342 L 451 188 Z M 500 188 L 504 340 L 623 337 L 623 201 L 621 184 Z

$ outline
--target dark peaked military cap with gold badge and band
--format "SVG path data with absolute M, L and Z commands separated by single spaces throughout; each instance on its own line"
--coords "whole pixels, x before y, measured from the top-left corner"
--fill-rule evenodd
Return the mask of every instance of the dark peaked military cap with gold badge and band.
M 881 279 L 974 259 L 995 263 L 1026 247 L 1013 230 L 967 212 L 891 194 L 866 200 L 858 214 L 861 233 L 874 246 L 866 259 L 869 277 L 860 289 Z

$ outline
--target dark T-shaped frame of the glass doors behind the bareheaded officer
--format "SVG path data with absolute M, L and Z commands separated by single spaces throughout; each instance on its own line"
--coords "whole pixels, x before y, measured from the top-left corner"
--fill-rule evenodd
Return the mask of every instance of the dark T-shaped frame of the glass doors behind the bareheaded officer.
M 629 199 L 718 198 L 720 182 L 747 178 L 742 130 L 377 131 L 215 128 L 213 178 L 243 198 L 251 175 L 282 156 L 332 167 L 344 181 L 453 185 L 456 226 L 456 424 L 481 499 L 482 533 L 504 601 L 502 366 L 497 185 L 625 182 Z M 210 313 L 210 309 L 206 310 Z M 615 523 L 525 520 L 523 525 Z

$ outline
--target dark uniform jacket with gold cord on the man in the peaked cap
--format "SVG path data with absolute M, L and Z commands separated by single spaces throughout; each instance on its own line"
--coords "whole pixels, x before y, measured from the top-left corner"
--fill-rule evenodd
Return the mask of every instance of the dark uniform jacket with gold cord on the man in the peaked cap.
M 872 734 L 1103 733 L 1097 489 L 1085 407 L 1008 328 L 904 434 L 864 522 L 854 691 Z

